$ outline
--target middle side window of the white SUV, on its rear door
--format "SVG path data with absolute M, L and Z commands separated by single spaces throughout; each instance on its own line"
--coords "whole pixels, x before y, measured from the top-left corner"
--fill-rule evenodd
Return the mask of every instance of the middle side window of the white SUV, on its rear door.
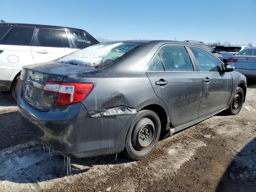
M 32 46 L 70 47 L 65 30 L 38 28 L 34 34 Z

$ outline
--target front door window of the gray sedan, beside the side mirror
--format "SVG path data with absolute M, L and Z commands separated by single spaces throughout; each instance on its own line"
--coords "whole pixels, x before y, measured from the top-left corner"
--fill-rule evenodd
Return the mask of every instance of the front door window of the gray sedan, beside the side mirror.
M 221 72 L 223 70 L 222 64 L 205 50 L 196 47 L 190 47 L 190 49 L 196 58 L 200 71 Z

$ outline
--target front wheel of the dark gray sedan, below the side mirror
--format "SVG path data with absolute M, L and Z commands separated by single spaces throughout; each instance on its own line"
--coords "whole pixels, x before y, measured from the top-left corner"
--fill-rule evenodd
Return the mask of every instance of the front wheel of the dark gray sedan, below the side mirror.
M 242 88 L 237 87 L 232 100 L 230 102 L 230 106 L 228 108 L 228 112 L 230 115 L 236 115 L 242 109 L 244 103 L 244 91 Z

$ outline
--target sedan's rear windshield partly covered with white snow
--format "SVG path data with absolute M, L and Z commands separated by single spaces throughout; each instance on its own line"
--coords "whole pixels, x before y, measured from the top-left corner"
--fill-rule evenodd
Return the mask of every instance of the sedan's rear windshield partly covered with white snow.
M 140 45 L 141 43 L 134 42 L 96 44 L 59 58 L 56 62 L 89 67 L 106 66 Z

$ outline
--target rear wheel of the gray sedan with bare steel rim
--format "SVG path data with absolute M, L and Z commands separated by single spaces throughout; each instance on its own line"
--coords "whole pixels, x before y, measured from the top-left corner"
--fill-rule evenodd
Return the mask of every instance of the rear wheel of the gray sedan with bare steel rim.
M 150 110 L 139 111 L 126 136 L 123 153 L 132 160 L 148 156 L 159 140 L 161 122 L 156 113 Z

